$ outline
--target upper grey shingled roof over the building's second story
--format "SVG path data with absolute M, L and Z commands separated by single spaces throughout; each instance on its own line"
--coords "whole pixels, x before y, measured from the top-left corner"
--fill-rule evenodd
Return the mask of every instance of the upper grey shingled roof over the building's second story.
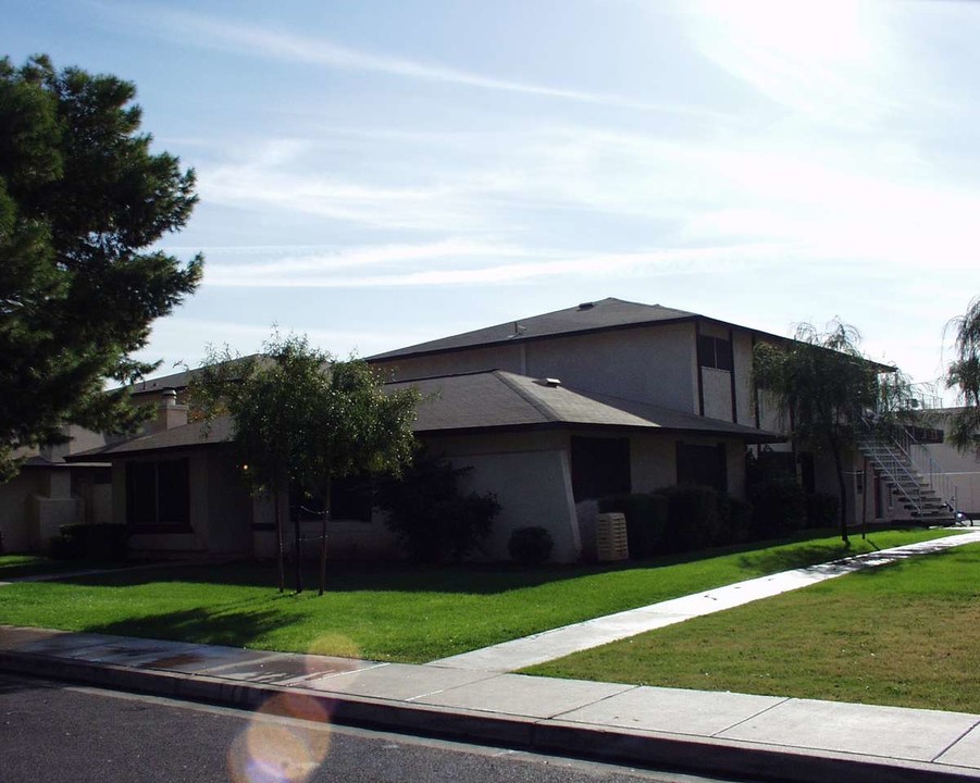
M 368 357 L 368 361 L 383 362 L 409 356 L 441 353 L 460 348 L 498 345 L 514 339 L 534 340 L 559 337 L 568 334 L 604 332 L 615 328 L 629 328 L 647 324 L 678 323 L 703 319 L 697 313 L 685 310 L 673 310 L 660 304 L 641 304 L 622 299 L 600 299 L 583 302 L 578 307 L 543 315 L 508 321 L 507 323 L 487 326 L 486 328 L 466 332 L 464 334 L 443 337 L 442 339 L 420 343 L 407 348 L 376 353 Z M 704 319 L 712 321 L 714 319 Z M 721 323 L 721 322 L 717 322 Z

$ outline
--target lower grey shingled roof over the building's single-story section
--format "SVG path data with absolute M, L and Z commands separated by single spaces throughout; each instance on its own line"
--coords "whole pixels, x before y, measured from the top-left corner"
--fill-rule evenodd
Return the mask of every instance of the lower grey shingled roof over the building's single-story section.
M 417 435 L 468 434 L 549 428 L 690 432 L 729 435 L 746 443 L 777 443 L 784 438 L 764 430 L 693 413 L 566 388 L 558 381 L 491 370 L 443 375 L 386 388 L 415 387 L 423 395 Z M 169 449 L 198 448 L 226 442 L 232 421 L 221 417 L 206 430 L 200 422 L 140 435 L 72 455 L 69 460 L 111 459 Z

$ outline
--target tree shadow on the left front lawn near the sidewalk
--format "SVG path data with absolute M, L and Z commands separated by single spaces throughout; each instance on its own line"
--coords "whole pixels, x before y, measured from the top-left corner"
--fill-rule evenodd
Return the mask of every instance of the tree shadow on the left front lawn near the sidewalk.
M 95 623 L 83 630 L 114 636 L 247 647 L 293 622 L 294 618 L 273 609 L 185 609 Z

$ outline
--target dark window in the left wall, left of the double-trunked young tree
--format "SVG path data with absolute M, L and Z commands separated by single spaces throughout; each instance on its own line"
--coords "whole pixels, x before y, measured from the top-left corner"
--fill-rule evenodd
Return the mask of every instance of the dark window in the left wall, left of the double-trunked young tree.
M 186 530 L 190 523 L 188 460 L 129 462 L 126 517 L 136 527 Z

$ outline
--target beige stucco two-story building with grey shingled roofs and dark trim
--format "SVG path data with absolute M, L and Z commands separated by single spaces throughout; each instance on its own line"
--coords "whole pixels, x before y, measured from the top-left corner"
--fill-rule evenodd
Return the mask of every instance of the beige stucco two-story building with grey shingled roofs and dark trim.
M 368 361 L 393 388 L 421 390 L 417 436 L 471 468 L 469 488 L 497 496 L 503 511 L 487 558 L 506 557 L 512 530 L 542 525 L 555 539 L 555 559 L 571 561 L 588 547 L 582 501 L 674 484 L 742 497 L 750 447 L 786 452 L 807 488 L 836 493 L 830 460 L 792 455 L 776 411 L 753 395 L 759 340 L 785 338 L 603 299 Z M 69 459 L 112 465 L 112 518 L 131 525 L 138 551 L 269 555 L 272 506 L 245 494 L 226 443 L 231 422 L 209 432 L 187 422 L 173 391 L 186 383 L 181 373 L 134 387 L 160 407 L 150 431 Z M 854 493 L 863 489 L 852 484 Z M 281 504 L 288 513 L 288 500 Z M 335 556 L 394 551 L 368 498 L 347 498 L 342 487 L 334 511 Z

